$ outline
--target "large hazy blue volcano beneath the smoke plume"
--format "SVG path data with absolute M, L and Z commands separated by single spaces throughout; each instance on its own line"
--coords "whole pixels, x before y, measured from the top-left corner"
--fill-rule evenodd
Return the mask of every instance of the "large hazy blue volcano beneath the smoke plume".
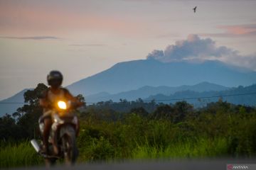
M 70 84 L 68 89 L 73 94 L 90 96 L 102 91 L 118 94 L 142 86 L 182 86 L 203 81 L 222 86 L 248 86 L 256 83 L 256 72 L 218 61 L 164 63 L 134 60 L 117 63 L 110 69 Z

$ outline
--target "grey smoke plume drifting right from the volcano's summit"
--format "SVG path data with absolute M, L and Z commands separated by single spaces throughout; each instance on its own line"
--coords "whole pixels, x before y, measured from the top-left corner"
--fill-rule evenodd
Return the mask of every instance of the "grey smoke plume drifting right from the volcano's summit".
M 225 46 L 217 47 L 212 39 L 202 39 L 198 35 L 188 35 L 186 40 L 176 41 L 175 45 L 168 45 L 165 50 L 153 50 L 146 58 L 161 62 L 219 60 L 256 71 L 256 54 L 240 55 L 237 50 Z

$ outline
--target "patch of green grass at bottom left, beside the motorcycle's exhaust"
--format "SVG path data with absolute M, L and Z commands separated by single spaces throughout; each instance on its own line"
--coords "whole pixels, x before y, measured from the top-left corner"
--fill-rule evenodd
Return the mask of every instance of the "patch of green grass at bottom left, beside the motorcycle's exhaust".
M 30 142 L 1 142 L 0 168 L 34 166 L 42 163 L 43 159 L 36 154 Z

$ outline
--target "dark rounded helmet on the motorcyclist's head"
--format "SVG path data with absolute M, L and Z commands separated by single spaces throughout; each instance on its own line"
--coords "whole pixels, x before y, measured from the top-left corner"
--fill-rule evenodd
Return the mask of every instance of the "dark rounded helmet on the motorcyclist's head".
M 49 86 L 57 88 L 62 84 L 62 81 L 63 75 L 59 71 L 53 70 L 47 75 L 47 82 Z

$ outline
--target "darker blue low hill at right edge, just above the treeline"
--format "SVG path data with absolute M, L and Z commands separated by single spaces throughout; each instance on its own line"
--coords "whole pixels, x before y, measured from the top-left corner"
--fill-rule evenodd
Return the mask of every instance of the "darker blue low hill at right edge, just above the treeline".
M 214 97 L 221 96 L 221 97 Z M 208 98 L 209 97 L 209 98 Z M 176 99 L 181 100 L 176 100 Z M 192 99 L 183 99 L 192 98 Z M 218 101 L 222 98 L 223 101 L 228 101 L 233 104 L 240 104 L 245 106 L 256 106 L 256 84 L 252 86 L 238 86 L 237 88 L 231 88 L 225 91 L 178 91 L 175 94 L 166 96 L 164 94 L 157 94 L 144 98 L 146 101 L 156 100 L 161 103 L 176 103 L 176 101 L 185 100 L 188 103 L 193 104 L 195 107 L 206 106 L 207 103 Z

